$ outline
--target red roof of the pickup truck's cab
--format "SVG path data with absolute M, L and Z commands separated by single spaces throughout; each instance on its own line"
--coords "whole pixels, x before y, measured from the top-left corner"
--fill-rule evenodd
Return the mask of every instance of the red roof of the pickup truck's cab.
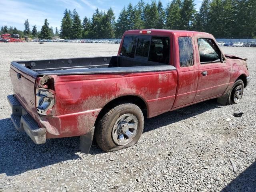
M 206 36 L 212 36 L 206 32 L 198 32 L 198 31 L 186 31 L 186 30 L 169 30 L 169 29 L 140 29 L 140 30 L 130 30 L 124 32 L 125 34 L 140 34 L 140 31 L 150 31 L 149 35 L 170 35 L 170 34 L 202 34 Z

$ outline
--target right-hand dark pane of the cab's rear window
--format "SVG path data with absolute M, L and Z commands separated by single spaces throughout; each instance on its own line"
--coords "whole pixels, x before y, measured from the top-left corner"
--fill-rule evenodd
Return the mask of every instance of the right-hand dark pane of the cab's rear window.
M 168 64 L 170 60 L 170 40 L 168 37 L 152 37 L 149 61 Z

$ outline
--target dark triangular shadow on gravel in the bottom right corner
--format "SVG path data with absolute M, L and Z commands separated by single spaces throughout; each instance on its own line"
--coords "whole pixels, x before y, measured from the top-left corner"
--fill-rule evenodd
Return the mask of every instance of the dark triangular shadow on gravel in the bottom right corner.
M 244 172 L 238 175 L 221 192 L 255 192 L 256 191 L 256 161 Z

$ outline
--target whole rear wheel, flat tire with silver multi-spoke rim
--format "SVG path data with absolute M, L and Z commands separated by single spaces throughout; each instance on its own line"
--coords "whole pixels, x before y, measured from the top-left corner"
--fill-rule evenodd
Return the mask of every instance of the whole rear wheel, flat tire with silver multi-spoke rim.
M 95 139 L 106 151 L 117 151 L 136 144 L 144 128 L 141 109 L 132 103 L 124 103 L 108 110 L 96 125 Z

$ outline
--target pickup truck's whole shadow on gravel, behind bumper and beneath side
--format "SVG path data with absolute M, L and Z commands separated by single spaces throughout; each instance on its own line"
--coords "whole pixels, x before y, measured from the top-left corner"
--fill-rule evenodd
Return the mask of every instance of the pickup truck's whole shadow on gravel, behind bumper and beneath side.
M 218 107 L 220 105 L 216 100 L 209 100 L 146 119 L 144 132 Z M 0 132 L 0 174 L 5 173 L 7 176 L 13 176 L 29 170 L 63 163 L 67 160 L 80 159 L 80 156 L 76 154 L 79 151 L 79 137 L 50 139 L 46 140 L 45 144 L 36 145 L 26 132 L 16 131 L 10 118 L 0 120 Z M 90 154 L 100 153 L 103 151 L 94 141 Z

